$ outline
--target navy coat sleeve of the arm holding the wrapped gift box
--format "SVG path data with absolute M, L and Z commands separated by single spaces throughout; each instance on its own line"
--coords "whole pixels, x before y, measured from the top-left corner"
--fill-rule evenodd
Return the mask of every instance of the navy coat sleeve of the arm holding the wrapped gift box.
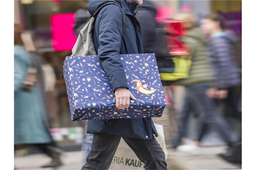
M 101 12 L 99 26 L 98 57 L 107 74 L 113 92 L 118 87 L 129 89 L 119 51 L 121 47 L 122 11 L 116 5 L 108 5 Z

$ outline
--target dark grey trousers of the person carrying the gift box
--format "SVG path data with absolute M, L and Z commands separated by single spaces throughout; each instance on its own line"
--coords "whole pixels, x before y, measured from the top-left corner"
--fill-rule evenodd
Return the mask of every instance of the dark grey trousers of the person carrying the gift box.
M 155 138 L 143 140 L 123 137 L 137 157 L 145 164 L 145 169 L 167 169 L 165 155 Z M 109 169 L 121 136 L 109 133 L 95 133 L 92 149 L 83 169 Z

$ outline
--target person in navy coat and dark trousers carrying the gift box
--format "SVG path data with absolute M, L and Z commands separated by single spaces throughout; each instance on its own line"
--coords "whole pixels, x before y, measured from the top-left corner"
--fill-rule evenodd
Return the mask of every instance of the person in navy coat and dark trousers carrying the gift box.
M 126 94 L 127 100 L 130 100 L 133 96 L 129 95 L 129 87 L 119 54 L 144 52 L 140 24 L 134 16 L 136 7 L 138 3 L 142 3 L 142 0 L 133 0 L 133 2 L 90 0 L 87 5 L 88 11 L 93 14 L 107 2 L 116 3 L 125 13 L 127 25 L 123 37 L 121 36 L 122 10 L 117 5 L 107 5 L 97 15 L 93 42 L 116 99 L 121 92 Z M 117 108 L 125 108 L 124 105 L 118 106 L 117 101 L 116 104 Z M 145 163 L 145 169 L 167 169 L 164 152 L 153 136 L 153 134 L 157 136 L 157 132 L 151 118 L 89 120 L 87 133 L 93 133 L 94 136 L 92 149 L 82 169 L 108 169 L 121 137 Z

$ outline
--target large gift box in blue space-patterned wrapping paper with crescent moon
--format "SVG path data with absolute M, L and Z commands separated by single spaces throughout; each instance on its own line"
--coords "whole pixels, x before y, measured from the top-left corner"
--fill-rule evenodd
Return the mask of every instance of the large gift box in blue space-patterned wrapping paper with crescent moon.
M 138 101 L 115 107 L 115 96 L 99 58 L 67 56 L 63 75 L 72 121 L 160 117 L 166 102 L 154 54 L 121 54 L 129 90 Z

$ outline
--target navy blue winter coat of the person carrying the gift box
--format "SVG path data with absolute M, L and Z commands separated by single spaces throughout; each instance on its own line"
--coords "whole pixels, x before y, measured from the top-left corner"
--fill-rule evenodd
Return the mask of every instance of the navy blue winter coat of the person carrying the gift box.
M 124 10 L 127 20 L 124 36 L 121 37 L 123 23 L 121 9 L 116 5 L 108 5 L 97 16 L 93 42 L 112 89 L 129 88 L 119 54 L 143 53 L 141 28 L 138 20 L 134 17 L 137 4 L 118 0 L 89 0 L 88 11 L 93 14 L 107 2 L 115 2 Z M 98 132 L 140 139 L 152 139 L 153 134 L 157 136 L 151 118 L 89 120 L 87 133 Z

